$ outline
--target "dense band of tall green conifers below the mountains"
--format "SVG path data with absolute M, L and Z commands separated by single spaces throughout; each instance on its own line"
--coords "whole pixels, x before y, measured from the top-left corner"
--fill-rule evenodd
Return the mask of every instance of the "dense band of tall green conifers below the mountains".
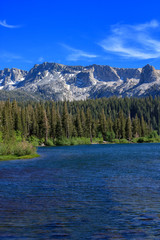
M 18 133 L 41 142 L 62 138 L 103 138 L 104 141 L 160 133 L 160 97 L 102 98 L 65 102 L 0 102 L 0 133 L 8 141 Z

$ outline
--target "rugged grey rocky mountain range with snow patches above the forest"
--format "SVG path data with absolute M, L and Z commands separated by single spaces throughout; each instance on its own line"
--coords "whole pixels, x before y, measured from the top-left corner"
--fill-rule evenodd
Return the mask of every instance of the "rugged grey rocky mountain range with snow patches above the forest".
M 1 70 L 0 90 L 12 93 L 18 90 L 54 100 L 154 96 L 160 95 L 160 70 L 149 64 L 134 69 L 45 62 L 36 64 L 29 72 L 16 68 Z

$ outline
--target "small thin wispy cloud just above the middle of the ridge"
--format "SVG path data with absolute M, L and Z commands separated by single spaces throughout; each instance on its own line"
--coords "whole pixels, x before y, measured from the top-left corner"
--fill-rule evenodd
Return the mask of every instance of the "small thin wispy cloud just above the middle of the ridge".
M 67 60 L 68 61 L 78 61 L 80 59 L 83 59 L 83 58 L 97 58 L 98 55 L 95 55 L 95 54 L 90 54 L 90 53 L 87 53 L 85 51 L 82 51 L 80 49 L 76 49 L 76 48 L 72 48 L 66 44 L 60 44 L 61 46 L 63 46 L 65 49 L 67 49 L 70 53 L 69 55 L 67 56 Z

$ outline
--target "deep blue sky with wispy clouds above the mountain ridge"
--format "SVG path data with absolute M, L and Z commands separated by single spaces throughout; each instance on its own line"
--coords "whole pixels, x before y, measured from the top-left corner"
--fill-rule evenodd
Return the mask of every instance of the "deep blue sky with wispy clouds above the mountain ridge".
M 160 2 L 2 0 L 0 69 L 103 64 L 160 69 Z

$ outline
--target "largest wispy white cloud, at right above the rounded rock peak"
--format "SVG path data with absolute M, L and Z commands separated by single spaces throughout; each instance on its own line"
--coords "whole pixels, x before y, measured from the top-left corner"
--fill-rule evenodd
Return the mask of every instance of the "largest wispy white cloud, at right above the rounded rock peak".
M 138 25 L 117 24 L 112 26 L 111 34 L 99 45 L 105 51 L 122 57 L 159 58 L 160 39 L 154 37 L 155 30 L 160 30 L 160 24 L 156 20 Z

